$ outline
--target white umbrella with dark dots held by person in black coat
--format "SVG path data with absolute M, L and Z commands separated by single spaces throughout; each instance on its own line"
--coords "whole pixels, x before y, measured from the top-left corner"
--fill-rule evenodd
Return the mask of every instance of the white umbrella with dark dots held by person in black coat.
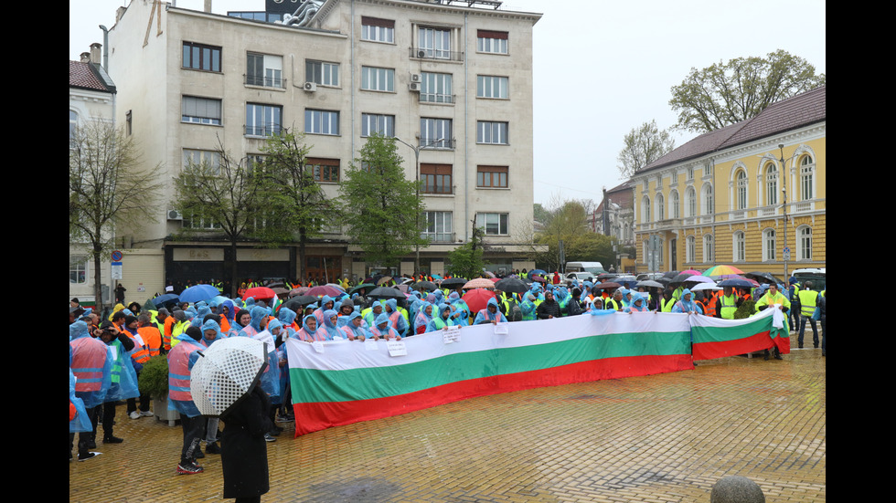
M 204 415 L 225 414 L 249 393 L 268 364 L 267 344 L 249 337 L 215 341 L 190 371 L 193 403 Z

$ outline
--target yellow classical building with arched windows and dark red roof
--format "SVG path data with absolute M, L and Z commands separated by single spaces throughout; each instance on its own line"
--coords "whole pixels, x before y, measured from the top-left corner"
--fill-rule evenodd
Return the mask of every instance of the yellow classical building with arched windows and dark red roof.
M 700 135 L 635 173 L 637 271 L 826 267 L 826 87 Z

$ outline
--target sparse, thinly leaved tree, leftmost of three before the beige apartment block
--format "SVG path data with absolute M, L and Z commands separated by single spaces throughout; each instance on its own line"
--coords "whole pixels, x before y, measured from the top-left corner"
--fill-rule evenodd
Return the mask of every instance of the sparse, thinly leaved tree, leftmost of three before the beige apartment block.
M 249 158 L 235 158 L 219 139 L 219 149 L 210 158 L 187 160 L 175 178 L 175 207 L 184 215 L 179 236 L 223 235 L 230 254 L 225 260 L 230 285 L 236 295 L 237 244 L 257 241 L 265 220 L 272 220 L 270 180 L 261 165 Z

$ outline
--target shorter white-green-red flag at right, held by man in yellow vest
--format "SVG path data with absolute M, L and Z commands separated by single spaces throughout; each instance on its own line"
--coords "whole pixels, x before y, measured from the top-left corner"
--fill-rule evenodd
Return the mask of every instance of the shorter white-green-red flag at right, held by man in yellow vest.
M 779 309 L 765 309 L 743 320 L 691 315 L 694 360 L 711 360 L 777 347 L 790 352 L 790 330 Z

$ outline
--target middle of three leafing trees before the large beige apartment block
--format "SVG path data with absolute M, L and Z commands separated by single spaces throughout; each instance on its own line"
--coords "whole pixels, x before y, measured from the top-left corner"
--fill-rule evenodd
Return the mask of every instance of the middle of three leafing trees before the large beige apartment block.
M 299 278 L 305 278 L 305 248 L 312 239 L 322 235 L 327 219 L 338 217 L 338 210 L 325 197 L 315 170 L 321 166 L 308 165 L 306 158 L 311 147 L 304 144 L 304 134 L 283 129 L 273 134 L 261 147 L 266 155 L 262 170 L 269 186 L 267 208 L 274 215 L 258 234 L 269 244 L 282 246 L 298 241 Z

